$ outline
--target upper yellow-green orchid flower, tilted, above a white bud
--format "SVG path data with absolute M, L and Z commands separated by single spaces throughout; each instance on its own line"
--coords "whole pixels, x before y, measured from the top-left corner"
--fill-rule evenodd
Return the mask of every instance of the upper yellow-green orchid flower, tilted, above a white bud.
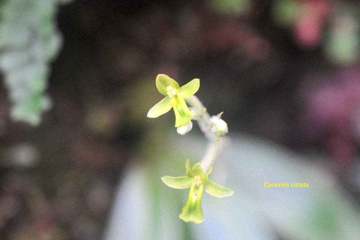
M 198 78 L 186 83 L 180 87 L 174 79 L 165 74 L 159 74 L 156 77 L 156 87 L 162 95 L 166 97 L 155 104 L 148 112 L 149 118 L 157 118 L 170 111 L 175 112 L 175 127 L 188 124 L 194 114 L 185 103 L 185 98 L 190 98 L 199 90 L 200 80 Z

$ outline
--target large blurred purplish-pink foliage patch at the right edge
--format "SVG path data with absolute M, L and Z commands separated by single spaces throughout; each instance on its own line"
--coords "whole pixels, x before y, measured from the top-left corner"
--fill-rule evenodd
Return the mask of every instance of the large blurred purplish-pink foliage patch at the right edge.
M 311 142 L 321 141 L 338 167 L 347 169 L 360 143 L 360 68 L 344 69 L 303 89 L 302 129 Z

